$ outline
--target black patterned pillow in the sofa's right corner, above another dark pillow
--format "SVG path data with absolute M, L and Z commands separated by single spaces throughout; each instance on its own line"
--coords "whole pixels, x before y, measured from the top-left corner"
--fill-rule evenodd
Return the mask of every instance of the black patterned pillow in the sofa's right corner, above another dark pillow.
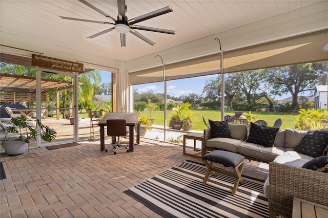
M 301 154 L 316 158 L 322 156 L 327 144 L 327 131 L 309 130 L 294 150 Z

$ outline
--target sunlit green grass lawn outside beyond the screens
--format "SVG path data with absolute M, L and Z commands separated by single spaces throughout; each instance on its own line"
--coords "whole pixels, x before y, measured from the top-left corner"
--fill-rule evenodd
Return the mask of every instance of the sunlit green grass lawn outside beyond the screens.
M 221 111 L 215 110 L 193 110 L 193 123 L 194 123 L 194 130 L 203 130 L 206 128 L 205 124 L 203 123 L 202 117 L 206 119 L 207 123 L 208 120 L 221 120 Z M 281 112 L 252 112 L 255 116 L 257 116 L 258 120 L 265 120 L 268 123 L 268 126 L 273 126 L 276 119 L 282 119 L 282 125 L 280 129 L 285 128 L 294 128 L 296 124 L 296 119 L 298 117 L 297 114 L 288 114 L 288 113 L 281 113 Z M 234 111 L 225 111 L 225 115 L 233 116 L 235 113 Z M 139 116 L 145 115 L 147 118 L 150 118 L 149 112 L 140 112 Z M 167 112 L 167 125 L 169 125 L 169 117 L 171 115 L 171 111 Z M 79 113 L 79 117 L 82 118 L 89 118 L 87 112 Z M 164 123 L 164 112 L 163 111 L 154 111 L 151 113 L 151 118 L 154 119 L 155 125 L 163 125 Z

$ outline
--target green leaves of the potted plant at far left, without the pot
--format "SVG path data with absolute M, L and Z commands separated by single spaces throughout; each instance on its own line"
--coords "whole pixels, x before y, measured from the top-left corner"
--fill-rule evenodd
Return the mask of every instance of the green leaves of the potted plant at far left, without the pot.
M 40 120 L 36 120 L 36 128 L 30 126 L 25 116 L 17 118 L 11 118 L 12 126 L 6 128 L 5 138 L 2 140 L 1 145 L 4 145 L 5 141 L 8 141 L 11 136 L 18 136 L 18 140 L 25 143 L 30 143 L 30 139 L 36 139 L 39 135 L 43 140 L 51 142 L 56 137 L 56 131 L 52 128 L 43 125 Z M 14 135 L 11 135 L 14 134 Z

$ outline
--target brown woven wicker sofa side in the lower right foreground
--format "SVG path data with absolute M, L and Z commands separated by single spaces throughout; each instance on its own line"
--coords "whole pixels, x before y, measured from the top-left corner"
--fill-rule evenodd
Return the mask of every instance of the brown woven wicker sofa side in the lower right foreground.
M 293 198 L 328 205 L 328 173 L 269 163 L 269 217 L 291 217 Z

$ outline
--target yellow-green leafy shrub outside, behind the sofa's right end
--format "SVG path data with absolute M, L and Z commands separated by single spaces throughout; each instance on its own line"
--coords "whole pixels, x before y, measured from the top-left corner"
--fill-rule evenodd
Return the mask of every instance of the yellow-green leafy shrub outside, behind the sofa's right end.
M 297 129 L 321 129 L 326 128 L 327 124 L 324 123 L 328 120 L 327 109 L 323 108 L 310 108 L 300 109 L 297 117 Z

